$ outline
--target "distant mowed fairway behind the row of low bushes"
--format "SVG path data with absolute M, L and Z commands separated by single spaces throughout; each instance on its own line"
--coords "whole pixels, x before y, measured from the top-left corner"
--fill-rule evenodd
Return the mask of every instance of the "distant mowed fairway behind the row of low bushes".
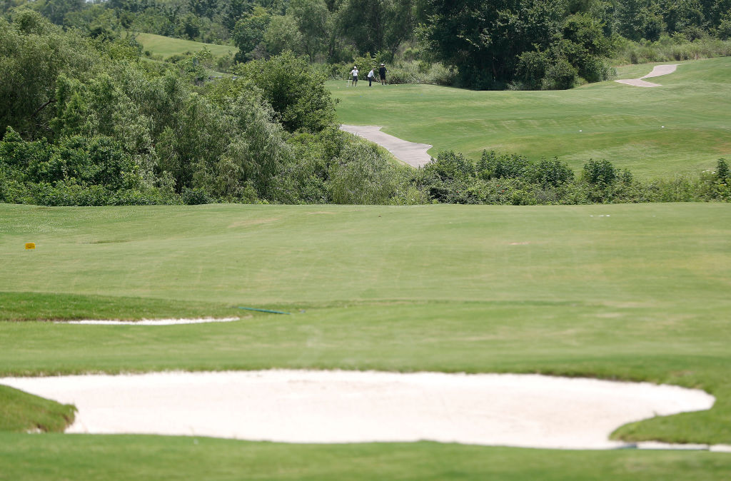
M 621 67 L 619 78 L 654 64 Z M 477 159 L 482 150 L 558 156 L 580 170 L 607 159 L 640 178 L 713 169 L 731 156 L 731 58 L 679 62 L 657 88 L 613 81 L 568 91 L 470 91 L 419 85 L 328 83 L 342 124 L 380 125 L 412 142 Z M 664 128 L 663 128 L 664 127 Z

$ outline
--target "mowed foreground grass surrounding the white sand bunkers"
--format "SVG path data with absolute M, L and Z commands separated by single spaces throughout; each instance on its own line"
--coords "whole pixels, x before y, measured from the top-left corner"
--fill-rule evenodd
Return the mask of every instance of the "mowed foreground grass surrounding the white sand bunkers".
M 616 436 L 731 444 L 729 205 L 0 205 L 0 219 L 0 311 L 15 313 L 4 319 L 32 319 L 35 306 L 41 319 L 292 313 L 153 328 L 0 322 L 0 375 L 346 368 L 648 380 L 701 387 L 716 405 Z M 731 470 L 731 455 L 705 452 L 20 433 L 0 444 L 8 479 L 177 469 L 173 479 L 721 480 Z

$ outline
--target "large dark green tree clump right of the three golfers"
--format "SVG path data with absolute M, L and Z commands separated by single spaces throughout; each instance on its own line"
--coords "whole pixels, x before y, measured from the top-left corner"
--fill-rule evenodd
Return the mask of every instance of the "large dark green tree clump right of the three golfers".
M 578 77 L 596 82 L 608 75 L 603 58 L 613 41 L 591 7 L 591 1 L 429 0 L 431 24 L 422 34 L 466 86 L 570 88 Z

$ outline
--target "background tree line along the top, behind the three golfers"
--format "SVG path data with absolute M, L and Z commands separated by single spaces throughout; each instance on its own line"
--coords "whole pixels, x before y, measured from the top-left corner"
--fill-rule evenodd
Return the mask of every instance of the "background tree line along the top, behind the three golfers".
M 340 70 L 376 53 L 439 63 L 454 75 L 438 81 L 471 88 L 569 88 L 605 80 L 627 42 L 731 37 L 731 0 L 0 0 L 21 7 L 91 37 L 235 45 L 240 62 L 289 50 Z

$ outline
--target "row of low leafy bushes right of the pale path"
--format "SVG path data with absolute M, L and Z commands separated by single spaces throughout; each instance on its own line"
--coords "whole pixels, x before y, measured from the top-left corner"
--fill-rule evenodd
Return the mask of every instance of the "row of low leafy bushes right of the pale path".
M 721 175 L 728 175 L 719 161 Z M 636 181 L 629 170 L 607 160 L 589 160 L 579 178 L 558 159 L 529 162 L 515 154 L 485 151 L 477 162 L 452 151 L 440 152 L 417 176 L 432 202 L 458 204 L 590 204 L 606 202 L 698 202 L 731 200 L 731 182 L 716 172 L 699 179 Z M 728 177 L 725 177 L 728 179 Z

